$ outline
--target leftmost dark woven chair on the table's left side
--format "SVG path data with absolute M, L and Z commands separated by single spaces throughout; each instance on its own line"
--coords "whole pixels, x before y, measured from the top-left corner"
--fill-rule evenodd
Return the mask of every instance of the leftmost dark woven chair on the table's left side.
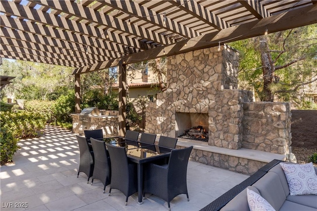
M 76 135 L 79 152 L 80 152 L 80 161 L 77 177 L 79 172 L 84 172 L 88 176 L 87 183 L 89 183 L 89 178 L 93 175 L 94 172 L 94 152 L 90 151 L 88 142 L 84 136 Z

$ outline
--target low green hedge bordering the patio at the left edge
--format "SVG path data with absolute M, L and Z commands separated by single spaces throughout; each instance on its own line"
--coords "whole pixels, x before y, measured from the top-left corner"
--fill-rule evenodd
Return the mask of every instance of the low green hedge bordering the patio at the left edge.
M 44 129 L 46 118 L 42 114 L 27 111 L 0 111 L 0 122 L 2 164 L 12 161 L 14 153 L 19 149 L 19 139 L 35 137 L 38 131 Z

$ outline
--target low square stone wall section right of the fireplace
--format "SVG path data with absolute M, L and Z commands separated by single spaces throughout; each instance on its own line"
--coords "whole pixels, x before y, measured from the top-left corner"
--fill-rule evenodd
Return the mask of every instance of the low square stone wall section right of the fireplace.
M 289 103 L 244 103 L 242 147 L 287 154 L 291 145 L 291 137 Z

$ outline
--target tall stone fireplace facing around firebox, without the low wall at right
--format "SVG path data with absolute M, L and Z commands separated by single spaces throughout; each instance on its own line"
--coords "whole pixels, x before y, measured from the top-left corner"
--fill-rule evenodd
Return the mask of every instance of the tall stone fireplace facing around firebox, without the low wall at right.
M 168 57 L 167 89 L 146 109 L 146 131 L 175 137 L 176 112 L 209 115 L 209 144 L 242 146 L 243 103 L 252 92 L 238 90 L 238 54 L 231 48 L 195 50 Z

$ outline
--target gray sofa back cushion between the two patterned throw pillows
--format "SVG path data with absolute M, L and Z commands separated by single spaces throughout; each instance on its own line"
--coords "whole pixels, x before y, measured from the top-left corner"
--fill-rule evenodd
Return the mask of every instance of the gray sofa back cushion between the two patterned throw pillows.
M 285 192 L 278 174 L 267 172 L 260 180 L 253 184 L 260 195 L 275 209 L 279 210 L 286 200 Z

